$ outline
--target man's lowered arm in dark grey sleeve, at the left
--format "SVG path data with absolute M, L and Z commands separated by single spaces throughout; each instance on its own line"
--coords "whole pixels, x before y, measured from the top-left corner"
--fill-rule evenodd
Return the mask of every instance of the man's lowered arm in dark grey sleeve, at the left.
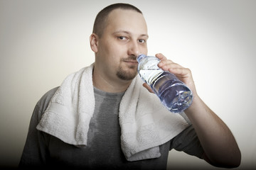
M 41 132 L 36 129 L 41 120 L 43 112 L 46 111 L 50 98 L 58 89 L 52 89 L 48 91 L 36 104 L 33 111 L 31 121 L 28 128 L 28 135 L 26 138 L 26 143 L 23 148 L 23 153 L 21 155 L 21 160 L 19 163 L 20 168 L 32 168 L 32 167 L 45 167 L 48 164 L 49 152 L 48 152 L 48 142 L 50 140 L 50 135 Z

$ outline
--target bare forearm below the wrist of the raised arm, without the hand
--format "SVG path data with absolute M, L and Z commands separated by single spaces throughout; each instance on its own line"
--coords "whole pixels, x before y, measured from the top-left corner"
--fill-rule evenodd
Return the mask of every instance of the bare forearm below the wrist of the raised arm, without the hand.
M 185 111 L 196 130 L 205 151 L 203 159 L 214 166 L 237 167 L 240 165 L 240 149 L 229 128 L 199 98 Z

